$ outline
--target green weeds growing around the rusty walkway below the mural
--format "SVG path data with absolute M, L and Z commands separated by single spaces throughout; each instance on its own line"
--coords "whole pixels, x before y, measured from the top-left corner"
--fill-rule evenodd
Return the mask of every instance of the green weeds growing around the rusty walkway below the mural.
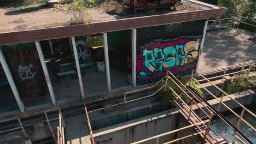
M 187 79 L 187 78 L 185 78 L 185 77 L 181 77 L 179 80 L 183 83 L 183 85 L 185 85 L 185 86 L 190 86 L 190 87 L 193 88 L 193 89 L 195 90 L 195 92 L 197 92 L 201 97 L 204 97 L 204 96 L 203 96 L 203 92 L 202 92 L 202 91 L 199 89 L 199 87 L 196 85 L 196 82 L 195 82 L 195 81 L 191 81 L 190 79 Z M 178 83 L 178 82 L 177 82 L 177 83 Z M 164 85 L 164 84 L 165 84 L 165 82 L 162 82 L 162 83 L 160 83 L 160 86 L 162 86 L 162 85 Z M 179 84 L 179 83 L 178 83 L 178 84 Z M 169 86 L 173 89 L 173 91 L 176 92 L 176 94 L 179 95 L 179 97 L 181 97 L 181 99 L 182 99 L 185 103 L 187 103 L 187 104 L 190 104 L 190 103 L 191 103 L 190 98 L 189 98 L 186 94 L 184 94 L 183 91 L 181 90 L 181 88 L 183 88 L 183 90 L 184 90 L 185 92 L 187 92 L 187 90 L 185 90 L 185 88 L 184 88 L 181 84 L 179 84 L 179 86 L 181 87 L 181 88 L 179 88 L 174 82 L 172 82 L 171 80 L 168 80 L 168 81 L 167 81 L 167 85 L 169 85 Z M 177 97 L 177 95 L 174 94 L 174 92 L 172 92 L 171 89 L 168 88 L 168 87 L 167 87 L 167 89 L 166 89 L 166 92 L 164 91 L 164 89 L 162 90 L 162 95 L 163 95 L 162 101 L 163 101 L 163 107 L 164 107 L 164 109 L 166 109 L 166 107 L 168 107 L 168 106 L 174 105 L 172 102 L 169 101 L 168 97 L 171 96 L 172 98 L 174 98 L 174 99 L 176 99 L 176 100 L 179 99 L 179 98 Z

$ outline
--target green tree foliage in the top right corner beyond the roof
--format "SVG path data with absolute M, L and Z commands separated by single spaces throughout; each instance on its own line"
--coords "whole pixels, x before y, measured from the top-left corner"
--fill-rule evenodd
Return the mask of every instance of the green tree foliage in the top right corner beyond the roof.
M 219 0 L 218 5 L 228 8 L 225 17 L 243 16 L 253 19 L 256 16 L 256 0 Z

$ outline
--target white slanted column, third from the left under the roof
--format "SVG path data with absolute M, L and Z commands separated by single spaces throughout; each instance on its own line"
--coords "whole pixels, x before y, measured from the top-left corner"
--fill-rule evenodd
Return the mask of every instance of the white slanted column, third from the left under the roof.
M 72 37 L 71 40 L 72 40 L 72 45 L 73 45 L 74 57 L 75 57 L 75 65 L 77 66 L 77 73 L 78 73 L 81 96 L 84 99 L 85 98 L 84 97 L 84 87 L 83 87 L 80 65 L 79 65 L 78 56 L 77 56 L 77 46 L 75 45 L 74 37 Z

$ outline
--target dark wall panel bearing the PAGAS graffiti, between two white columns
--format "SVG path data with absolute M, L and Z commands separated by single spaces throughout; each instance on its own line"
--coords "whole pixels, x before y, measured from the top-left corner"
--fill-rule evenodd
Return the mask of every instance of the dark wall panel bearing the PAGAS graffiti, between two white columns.
M 176 75 L 196 69 L 204 20 L 137 28 L 137 85 L 161 79 L 166 70 Z

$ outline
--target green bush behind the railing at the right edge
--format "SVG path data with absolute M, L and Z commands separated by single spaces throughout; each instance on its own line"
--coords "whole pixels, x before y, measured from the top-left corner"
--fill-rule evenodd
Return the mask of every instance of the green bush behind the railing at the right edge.
M 255 76 L 250 77 L 249 71 L 242 69 L 240 73 L 236 74 L 233 79 L 231 79 L 228 87 L 226 87 L 226 93 L 233 94 L 245 91 L 256 87 Z

